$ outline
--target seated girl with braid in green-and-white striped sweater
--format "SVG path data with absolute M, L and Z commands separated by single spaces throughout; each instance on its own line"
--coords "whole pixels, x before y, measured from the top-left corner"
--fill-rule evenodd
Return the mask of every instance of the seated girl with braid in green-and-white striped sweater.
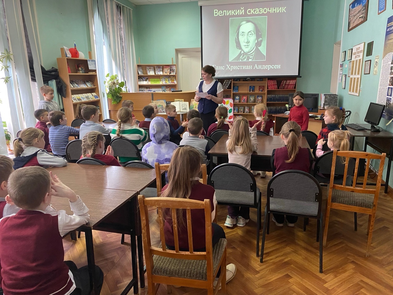
M 136 118 L 132 118 L 132 112 L 128 107 L 122 107 L 118 111 L 118 125 L 112 129 L 110 136 L 112 139 L 124 137 L 135 144 L 139 151 L 142 150 L 142 142 L 149 139 L 147 132 L 139 128 L 136 124 Z M 135 157 L 119 157 L 120 162 L 128 162 L 132 160 L 140 160 Z

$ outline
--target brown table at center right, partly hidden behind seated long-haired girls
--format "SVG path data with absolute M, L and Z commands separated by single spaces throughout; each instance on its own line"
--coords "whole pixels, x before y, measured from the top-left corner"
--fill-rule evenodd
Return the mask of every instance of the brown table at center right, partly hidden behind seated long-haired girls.
M 228 135 L 223 135 L 220 140 L 209 151 L 209 155 L 221 157 L 228 162 L 228 150 L 226 141 Z M 251 154 L 251 170 L 254 171 L 272 171 L 270 166 L 270 157 L 274 149 L 285 146 L 280 136 L 260 136 L 257 135 L 258 148 Z M 301 147 L 309 147 L 305 137 L 301 138 Z M 213 161 L 210 161 L 210 168 L 213 169 Z

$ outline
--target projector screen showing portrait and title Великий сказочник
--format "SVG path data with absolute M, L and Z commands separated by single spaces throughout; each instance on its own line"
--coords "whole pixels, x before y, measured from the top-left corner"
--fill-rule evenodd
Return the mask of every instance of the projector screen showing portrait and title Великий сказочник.
M 303 0 L 202 6 L 202 66 L 216 77 L 299 76 Z

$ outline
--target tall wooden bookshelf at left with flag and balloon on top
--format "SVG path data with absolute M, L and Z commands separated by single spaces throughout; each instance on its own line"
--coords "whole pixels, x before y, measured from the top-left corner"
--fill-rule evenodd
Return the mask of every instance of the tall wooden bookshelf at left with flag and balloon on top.
M 87 59 L 65 57 L 64 48 L 60 48 L 61 57 L 57 58 L 57 68 L 59 69 L 59 76 L 66 84 L 66 97 L 63 97 L 64 113 L 68 118 L 68 125 L 71 125 L 73 119 L 75 119 L 76 107 L 80 103 L 86 105 L 95 105 L 100 109 L 99 111 L 99 121 L 102 122 L 102 109 L 101 100 L 99 98 L 98 89 L 98 78 L 97 70 L 90 70 L 87 64 Z M 89 52 L 89 57 L 91 59 L 91 52 Z M 85 73 L 78 73 L 77 66 L 81 64 L 84 67 Z M 71 73 L 68 72 L 68 66 L 70 67 Z M 74 87 L 70 86 L 70 81 L 82 80 L 82 81 L 92 81 L 93 87 Z M 79 95 L 93 93 L 97 94 L 98 99 L 73 101 L 72 95 Z

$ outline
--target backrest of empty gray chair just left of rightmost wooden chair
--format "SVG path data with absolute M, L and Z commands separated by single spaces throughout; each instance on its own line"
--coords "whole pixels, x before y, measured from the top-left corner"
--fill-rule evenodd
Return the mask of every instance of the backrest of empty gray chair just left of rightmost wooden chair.
M 309 173 L 300 170 L 285 170 L 270 179 L 267 188 L 266 206 L 270 210 L 271 199 L 288 201 L 318 202 L 316 212 L 309 215 L 320 217 L 322 204 L 322 188 L 318 181 Z M 307 206 L 302 203 L 303 207 Z

